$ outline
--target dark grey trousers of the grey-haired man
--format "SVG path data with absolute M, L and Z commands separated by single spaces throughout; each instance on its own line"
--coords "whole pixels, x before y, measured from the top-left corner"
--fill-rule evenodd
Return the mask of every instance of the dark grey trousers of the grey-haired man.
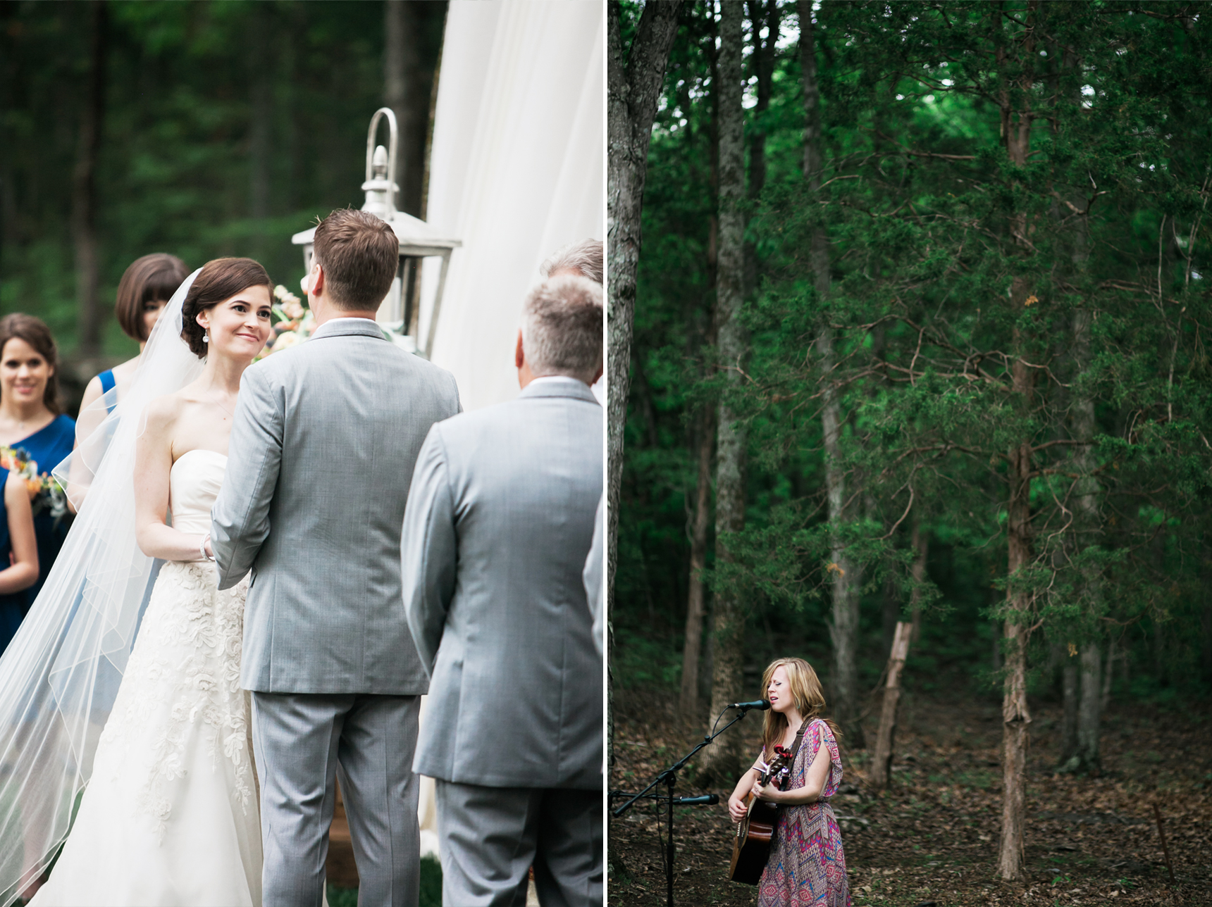
M 435 785 L 445 907 L 601 907 L 601 791 Z

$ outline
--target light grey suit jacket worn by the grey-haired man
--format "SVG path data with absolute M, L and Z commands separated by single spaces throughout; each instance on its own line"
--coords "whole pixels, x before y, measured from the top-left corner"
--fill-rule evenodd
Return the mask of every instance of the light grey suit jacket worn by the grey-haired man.
M 415 771 L 601 787 L 602 660 L 582 572 L 602 423 L 589 388 L 566 378 L 429 432 L 401 545 L 408 626 L 431 667 Z

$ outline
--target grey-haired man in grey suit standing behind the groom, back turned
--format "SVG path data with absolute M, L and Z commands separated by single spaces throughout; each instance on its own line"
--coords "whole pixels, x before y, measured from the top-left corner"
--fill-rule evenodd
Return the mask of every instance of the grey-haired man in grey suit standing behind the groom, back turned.
M 526 300 L 509 403 L 439 423 L 404 518 L 404 603 L 429 710 L 442 902 L 602 902 L 602 660 L 582 573 L 602 493 L 601 287 Z

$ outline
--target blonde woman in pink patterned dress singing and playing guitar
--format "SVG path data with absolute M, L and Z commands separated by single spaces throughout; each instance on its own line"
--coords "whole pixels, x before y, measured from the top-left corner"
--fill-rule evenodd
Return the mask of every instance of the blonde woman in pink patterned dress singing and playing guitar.
M 821 681 L 804 659 L 784 658 L 770 664 L 762 682 L 770 711 L 762 727 L 761 757 L 728 798 L 733 822 L 745 817 L 750 793 L 778 805 L 774 840 L 758 884 L 758 905 L 850 907 L 841 831 L 829 805 L 841 783 L 841 756 L 835 725 L 819 717 L 825 705 Z M 762 767 L 773 758 L 776 746 L 796 748 L 787 790 L 779 790 L 773 779 L 761 785 Z

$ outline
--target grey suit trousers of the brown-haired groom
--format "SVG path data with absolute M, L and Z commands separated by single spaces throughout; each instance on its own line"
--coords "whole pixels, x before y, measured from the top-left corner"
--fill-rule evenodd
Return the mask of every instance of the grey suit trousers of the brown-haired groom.
M 333 776 L 358 861 L 359 907 L 416 907 L 419 712 L 419 696 L 252 694 L 264 907 L 320 907 Z

